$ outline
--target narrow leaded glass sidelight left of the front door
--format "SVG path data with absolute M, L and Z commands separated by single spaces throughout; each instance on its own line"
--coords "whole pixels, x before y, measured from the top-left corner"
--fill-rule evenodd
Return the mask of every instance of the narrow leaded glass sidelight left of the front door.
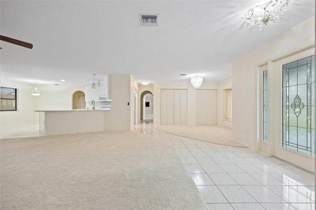
M 262 89 L 262 140 L 268 142 L 268 70 L 263 71 Z

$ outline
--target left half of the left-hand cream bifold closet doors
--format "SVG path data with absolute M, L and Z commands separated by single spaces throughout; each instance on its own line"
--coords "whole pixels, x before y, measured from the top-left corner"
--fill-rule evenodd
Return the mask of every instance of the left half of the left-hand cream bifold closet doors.
M 160 90 L 160 124 L 173 125 L 174 90 Z

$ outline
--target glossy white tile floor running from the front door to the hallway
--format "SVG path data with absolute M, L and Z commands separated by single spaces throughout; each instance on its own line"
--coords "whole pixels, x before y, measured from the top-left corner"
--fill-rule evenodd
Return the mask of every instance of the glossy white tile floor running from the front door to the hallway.
M 134 131 L 173 144 L 210 210 L 315 210 L 312 173 L 248 148 L 160 132 L 148 122 Z

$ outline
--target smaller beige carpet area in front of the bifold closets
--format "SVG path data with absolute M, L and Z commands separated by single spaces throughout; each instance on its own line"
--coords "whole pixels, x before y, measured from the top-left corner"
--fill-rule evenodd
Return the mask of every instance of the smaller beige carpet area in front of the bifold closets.
M 228 146 L 248 147 L 232 138 L 232 129 L 218 125 L 154 125 L 154 128 L 180 137 Z

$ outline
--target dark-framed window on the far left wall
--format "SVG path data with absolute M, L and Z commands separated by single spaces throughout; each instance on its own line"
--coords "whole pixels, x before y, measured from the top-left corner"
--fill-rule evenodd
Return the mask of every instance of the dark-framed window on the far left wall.
M 16 111 L 16 89 L 1 87 L 1 111 Z

